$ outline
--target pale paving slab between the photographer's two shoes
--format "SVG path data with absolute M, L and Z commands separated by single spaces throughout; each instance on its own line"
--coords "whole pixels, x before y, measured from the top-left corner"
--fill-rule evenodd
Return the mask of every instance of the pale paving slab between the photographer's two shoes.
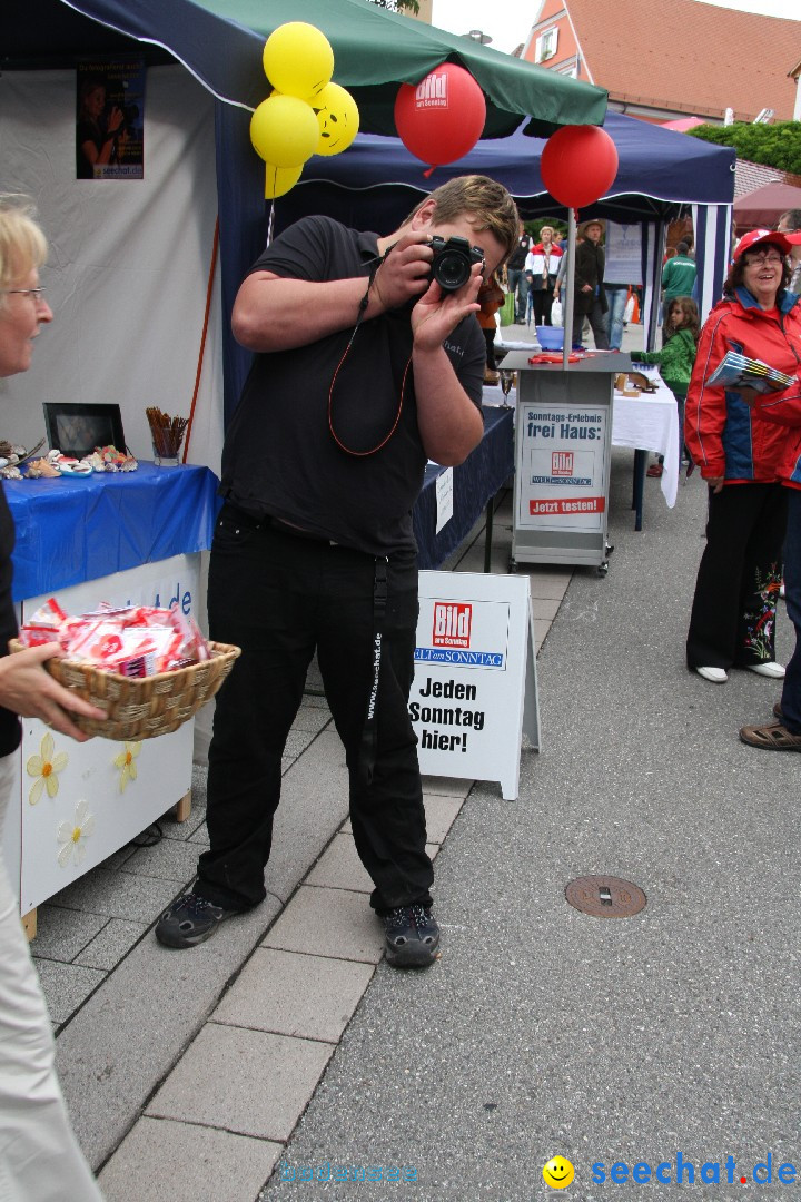
M 304 885 L 262 946 L 377 964 L 383 956 L 384 934 L 364 893 Z

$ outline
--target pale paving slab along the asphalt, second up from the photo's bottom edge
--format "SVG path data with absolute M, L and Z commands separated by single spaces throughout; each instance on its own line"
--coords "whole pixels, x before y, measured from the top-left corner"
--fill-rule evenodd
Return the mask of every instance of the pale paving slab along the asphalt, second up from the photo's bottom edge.
M 329 1043 L 207 1023 L 147 1114 L 288 1139 L 333 1052 Z

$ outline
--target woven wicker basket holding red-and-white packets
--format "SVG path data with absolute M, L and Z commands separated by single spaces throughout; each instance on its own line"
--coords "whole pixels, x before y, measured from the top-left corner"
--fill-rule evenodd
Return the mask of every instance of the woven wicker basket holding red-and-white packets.
M 8 649 L 22 651 L 24 648 L 12 638 Z M 240 648 L 209 643 L 209 649 L 210 660 L 142 679 L 128 679 L 115 672 L 102 672 L 90 664 L 58 657 L 46 660 L 44 667 L 65 689 L 106 710 L 104 719 L 70 714 L 85 734 L 135 742 L 171 734 L 214 697 L 240 655 Z

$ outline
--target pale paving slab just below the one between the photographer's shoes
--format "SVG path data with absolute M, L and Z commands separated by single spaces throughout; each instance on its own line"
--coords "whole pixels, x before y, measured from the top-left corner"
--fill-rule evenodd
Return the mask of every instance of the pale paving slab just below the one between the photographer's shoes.
M 258 947 L 211 1020 L 336 1043 L 373 971 L 370 964 Z

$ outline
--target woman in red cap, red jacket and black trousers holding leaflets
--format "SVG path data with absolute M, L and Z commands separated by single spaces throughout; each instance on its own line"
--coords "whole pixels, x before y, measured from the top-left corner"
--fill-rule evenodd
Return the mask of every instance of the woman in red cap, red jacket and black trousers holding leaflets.
M 737 392 L 707 381 L 728 351 L 794 375 L 801 367 L 801 303 L 787 292 L 785 234 L 755 230 L 740 240 L 698 346 L 685 440 L 710 487 L 706 549 L 687 635 L 687 665 L 723 684 L 729 668 L 781 679 L 775 657 L 787 489 L 779 460 L 787 434 L 752 416 Z

